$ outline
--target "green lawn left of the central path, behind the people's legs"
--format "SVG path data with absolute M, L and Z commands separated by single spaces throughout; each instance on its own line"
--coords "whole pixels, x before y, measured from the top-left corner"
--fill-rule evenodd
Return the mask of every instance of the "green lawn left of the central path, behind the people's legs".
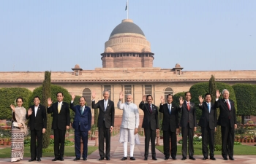
M 53 149 L 53 147 L 48 147 L 48 149 Z M 91 155 L 92 152 L 97 150 L 98 147 L 88 147 L 88 155 Z M 72 157 L 75 156 L 75 147 L 65 147 L 64 157 Z M 0 158 L 11 157 L 11 148 L 7 147 L 4 149 L 0 149 Z M 30 147 L 25 147 L 24 157 L 30 157 Z M 42 157 L 54 157 L 53 152 L 43 152 Z

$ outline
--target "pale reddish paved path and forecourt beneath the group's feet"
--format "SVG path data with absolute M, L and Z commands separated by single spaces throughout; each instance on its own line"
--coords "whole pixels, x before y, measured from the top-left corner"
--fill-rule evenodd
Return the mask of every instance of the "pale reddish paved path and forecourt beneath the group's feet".
M 217 163 L 232 163 L 232 164 L 245 164 L 245 163 L 249 163 L 249 164 L 254 164 L 256 163 L 256 155 L 236 155 L 235 156 L 235 160 L 231 161 L 231 160 L 222 160 L 222 156 L 220 155 L 216 155 L 215 157 L 217 158 L 217 160 L 202 160 L 202 155 L 195 155 L 196 160 L 181 160 L 181 155 L 177 156 L 177 160 L 164 160 L 164 155 L 162 154 L 162 152 L 159 152 L 159 150 L 156 149 L 157 151 L 157 159 L 158 160 L 151 160 L 151 151 L 149 150 L 149 156 L 148 156 L 148 160 L 145 161 L 143 160 L 144 158 L 144 137 L 140 136 L 140 145 L 135 145 L 135 152 L 134 152 L 134 157 L 136 158 L 136 160 L 129 160 L 129 156 L 128 156 L 128 160 L 121 160 L 121 157 L 123 157 L 123 145 L 120 144 L 118 142 L 119 139 L 119 134 L 116 136 L 111 137 L 111 148 L 110 148 L 110 160 L 101 160 L 99 161 L 99 152 L 98 150 L 96 150 L 95 152 L 93 152 L 91 155 L 88 156 L 88 160 L 87 161 L 83 161 L 83 160 L 78 160 L 78 161 L 73 161 L 73 159 L 75 157 L 64 157 L 64 162 L 61 161 L 56 161 L 56 162 L 52 162 L 51 160 L 53 159 L 53 157 L 42 157 L 42 161 L 41 162 L 31 162 L 31 163 L 47 163 L 47 164 L 51 164 L 51 163 L 65 163 L 65 164 L 69 164 L 69 163 L 75 163 L 75 164 L 80 164 L 80 163 L 175 163 L 175 164 L 182 164 L 182 163 L 204 163 L 204 164 L 217 164 Z M 162 140 L 159 140 L 160 144 L 162 145 Z M 89 145 L 90 146 L 94 146 L 94 141 L 89 141 Z M 74 150 L 74 154 L 75 154 L 75 150 Z M 255 152 L 256 154 L 256 152 Z M 128 146 L 128 155 L 129 155 L 129 146 Z M 16 163 L 29 163 L 29 157 L 25 157 L 23 160 L 20 160 L 19 162 Z M 4 158 L 4 159 L 0 159 L 0 164 L 1 163 L 10 163 L 10 159 Z M 30 164 L 31 164 L 30 163 Z

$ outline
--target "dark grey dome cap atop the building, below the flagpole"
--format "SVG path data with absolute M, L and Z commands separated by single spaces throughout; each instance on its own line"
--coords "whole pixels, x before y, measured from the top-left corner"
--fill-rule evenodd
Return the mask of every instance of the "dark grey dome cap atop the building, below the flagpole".
M 132 20 L 129 20 L 129 19 L 122 20 L 122 22 L 118 26 L 116 26 L 116 28 L 113 29 L 110 36 L 113 36 L 115 34 L 120 34 L 120 33 L 135 33 L 135 34 L 140 34 L 145 36 L 143 31 L 140 29 L 140 27 L 137 26 L 135 23 L 133 23 Z

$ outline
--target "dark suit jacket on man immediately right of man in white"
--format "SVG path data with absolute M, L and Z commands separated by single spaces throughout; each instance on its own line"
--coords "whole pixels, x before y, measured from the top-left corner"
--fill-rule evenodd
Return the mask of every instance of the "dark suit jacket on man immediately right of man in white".
M 148 104 L 144 104 L 143 101 L 140 102 L 139 107 L 144 112 L 142 128 L 151 129 L 151 130 L 159 129 L 157 106 L 152 104 L 152 114 L 150 114 L 150 112 L 149 112 Z

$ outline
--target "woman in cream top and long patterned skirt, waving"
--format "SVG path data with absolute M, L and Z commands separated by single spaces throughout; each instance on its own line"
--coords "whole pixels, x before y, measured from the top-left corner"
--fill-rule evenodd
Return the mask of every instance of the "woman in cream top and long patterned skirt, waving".
M 16 99 L 17 106 L 10 105 L 12 109 L 12 156 L 11 162 L 23 159 L 24 136 L 28 134 L 26 128 L 26 109 L 22 106 L 23 98 Z

